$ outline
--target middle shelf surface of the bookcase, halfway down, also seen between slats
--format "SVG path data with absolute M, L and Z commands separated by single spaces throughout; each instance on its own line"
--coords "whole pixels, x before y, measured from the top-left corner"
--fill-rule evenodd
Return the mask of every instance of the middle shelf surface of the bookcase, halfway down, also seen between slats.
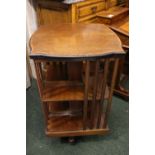
M 105 99 L 108 98 L 109 89 L 106 87 Z M 100 92 L 97 94 L 97 100 L 100 99 Z M 92 92 L 88 94 L 88 100 L 92 100 Z M 42 101 L 83 101 L 84 85 L 76 81 L 56 81 L 47 82 L 43 90 Z

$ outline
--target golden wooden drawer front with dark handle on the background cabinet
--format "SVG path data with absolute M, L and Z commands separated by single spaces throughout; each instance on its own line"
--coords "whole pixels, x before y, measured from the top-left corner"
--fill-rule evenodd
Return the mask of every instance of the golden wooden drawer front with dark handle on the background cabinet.
M 80 19 L 89 15 L 96 15 L 96 13 L 104 9 L 105 9 L 105 3 L 103 1 L 99 3 L 91 4 L 91 5 L 86 5 L 83 7 L 78 7 L 77 16 L 78 16 L 78 19 Z

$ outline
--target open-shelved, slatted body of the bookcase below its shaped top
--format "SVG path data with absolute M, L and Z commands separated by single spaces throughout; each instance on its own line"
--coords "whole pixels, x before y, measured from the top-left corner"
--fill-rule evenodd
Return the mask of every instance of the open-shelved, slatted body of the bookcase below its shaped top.
M 48 136 L 63 137 L 108 133 L 106 116 L 110 110 L 114 78 L 118 66 L 116 59 L 112 83 L 108 85 L 105 77 L 108 78 L 109 61 L 110 59 L 105 59 L 104 63 L 103 59 L 102 61 L 85 61 L 85 63 L 79 61 L 78 63 L 82 64 L 82 70 L 81 80 L 78 81 L 69 80 L 70 75 L 67 72 L 70 68 L 66 68 L 62 72 L 62 62 L 60 61 L 57 61 L 57 66 L 53 63 L 49 64 L 48 61 L 46 71 L 44 71 L 45 68 L 42 68 L 42 65 L 45 62 L 35 60 L 38 88 Z M 95 64 L 95 71 L 92 73 L 90 73 L 91 63 Z M 103 68 L 99 65 L 101 63 L 102 66 L 104 65 Z M 59 80 L 52 80 L 52 78 L 58 77 L 53 73 L 54 70 L 51 69 L 53 67 L 56 67 L 57 71 L 59 70 L 61 73 Z M 63 67 L 65 68 L 65 66 Z M 76 68 L 74 69 L 76 70 Z M 54 74 L 54 76 L 47 74 Z M 67 78 L 65 77 L 66 74 Z M 47 76 L 51 76 L 48 81 Z

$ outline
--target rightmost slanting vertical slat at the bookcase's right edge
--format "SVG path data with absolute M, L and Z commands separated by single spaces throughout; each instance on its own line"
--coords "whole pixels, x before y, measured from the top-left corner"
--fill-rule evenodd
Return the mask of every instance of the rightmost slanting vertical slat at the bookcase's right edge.
M 107 126 L 108 117 L 109 117 L 109 113 L 110 113 L 110 110 L 111 110 L 112 96 L 113 96 L 113 90 L 114 90 L 114 87 L 115 87 L 115 81 L 116 81 L 116 76 L 117 76 L 118 64 L 119 64 L 119 58 L 117 58 L 115 60 L 115 64 L 114 64 L 112 81 L 111 81 L 111 88 L 110 88 L 108 104 L 107 104 L 107 108 L 106 108 L 106 112 L 105 112 L 105 119 L 104 119 L 104 125 L 103 125 L 104 128 L 106 128 L 106 126 Z

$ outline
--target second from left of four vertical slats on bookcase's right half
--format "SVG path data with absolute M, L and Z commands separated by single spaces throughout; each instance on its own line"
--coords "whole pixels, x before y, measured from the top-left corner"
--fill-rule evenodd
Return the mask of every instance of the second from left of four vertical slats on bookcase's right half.
M 91 106 L 91 116 L 90 116 L 90 128 L 94 126 L 94 116 L 95 116 L 95 104 L 96 104 L 96 96 L 97 96 L 97 86 L 98 86 L 98 69 L 99 69 L 99 60 L 95 63 L 95 76 L 94 76 L 94 88 L 93 88 L 93 100 Z

